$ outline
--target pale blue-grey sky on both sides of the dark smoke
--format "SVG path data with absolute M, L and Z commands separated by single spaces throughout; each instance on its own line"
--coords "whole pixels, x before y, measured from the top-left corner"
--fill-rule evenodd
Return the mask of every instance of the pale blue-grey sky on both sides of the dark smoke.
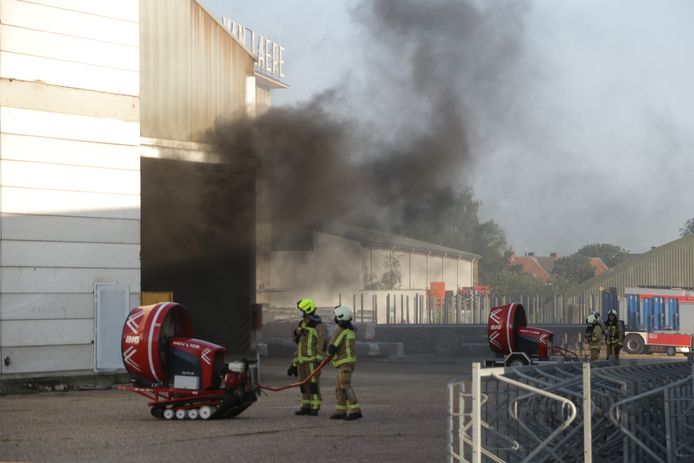
M 275 105 L 388 85 L 373 75 L 374 61 L 397 72 L 398 57 L 381 60 L 355 20 L 363 6 L 356 0 L 202 3 L 285 46 L 290 88 L 275 92 Z M 486 69 L 483 57 L 469 60 L 470 75 L 451 75 L 467 105 L 466 179 L 482 218 L 501 225 L 516 253 L 567 255 L 593 242 L 644 252 L 676 239 L 694 217 L 694 2 L 468 3 L 490 10 L 492 26 L 468 37 L 478 44 L 460 45 L 468 55 L 484 55 L 505 29 L 517 42 L 489 100 L 474 69 Z M 495 19 L 509 4 L 523 6 L 517 23 Z M 356 98 L 350 110 L 368 112 Z

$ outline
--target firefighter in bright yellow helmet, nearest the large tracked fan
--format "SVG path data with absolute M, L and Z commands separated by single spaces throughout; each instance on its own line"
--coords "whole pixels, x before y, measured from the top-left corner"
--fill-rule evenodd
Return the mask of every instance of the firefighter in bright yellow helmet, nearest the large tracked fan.
M 296 343 L 296 353 L 287 370 L 288 376 L 298 376 L 304 380 L 325 358 L 325 326 L 316 314 L 316 304 L 312 299 L 301 299 L 296 303 L 303 317 L 292 331 Z M 320 394 L 320 371 L 307 384 L 300 387 L 301 408 L 296 415 L 318 415 L 322 397 Z

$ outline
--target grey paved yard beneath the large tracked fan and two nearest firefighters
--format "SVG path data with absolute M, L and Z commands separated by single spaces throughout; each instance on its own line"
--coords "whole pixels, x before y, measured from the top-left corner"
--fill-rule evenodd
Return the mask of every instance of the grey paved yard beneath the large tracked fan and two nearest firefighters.
M 0 396 L 0 462 L 445 461 L 446 384 L 471 359 L 361 361 L 364 419 L 328 419 L 335 370 L 323 375 L 321 416 L 294 416 L 298 392 L 269 393 L 235 419 L 164 421 L 146 399 L 116 390 Z M 262 381 L 285 384 L 286 358 L 263 358 Z

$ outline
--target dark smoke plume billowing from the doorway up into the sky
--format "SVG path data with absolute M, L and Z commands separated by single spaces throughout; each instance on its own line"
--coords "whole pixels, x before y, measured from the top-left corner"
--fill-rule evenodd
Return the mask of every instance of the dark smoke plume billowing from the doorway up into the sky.
M 481 127 L 473 108 L 504 106 L 521 30 L 516 5 L 359 3 L 366 78 L 219 125 L 210 141 L 269 180 L 275 222 L 397 228 L 407 211 L 448 206 L 465 187 L 468 127 Z

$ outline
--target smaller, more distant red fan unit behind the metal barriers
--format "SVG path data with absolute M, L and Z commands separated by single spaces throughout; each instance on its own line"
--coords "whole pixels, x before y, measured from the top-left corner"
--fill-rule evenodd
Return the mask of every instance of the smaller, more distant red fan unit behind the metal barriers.
M 504 365 L 528 365 L 533 360 L 549 360 L 554 348 L 554 334 L 543 328 L 527 326 L 521 304 L 493 307 L 489 312 L 487 335 L 489 347 L 504 357 Z M 564 349 L 558 349 L 564 356 Z

